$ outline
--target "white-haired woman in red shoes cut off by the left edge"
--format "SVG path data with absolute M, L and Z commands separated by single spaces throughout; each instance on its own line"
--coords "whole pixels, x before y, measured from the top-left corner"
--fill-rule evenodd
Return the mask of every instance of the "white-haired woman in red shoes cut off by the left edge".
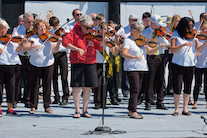
M 0 18 L 0 37 L 5 36 L 9 25 L 7 22 Z M 7 46 L 6 46 L 7 45 Z M 6 46 L 6 47 L 5 47 Z M 6 87 L 7 95 L 7 115 L 18 115 L 13 109 L 15 101 L 15 65 L 20 64 L 17 51 L 22 49 L 22 43 L 0 43 L 0 117 L 3 115 L 1 104 L 3 102 L 3 84 Z

